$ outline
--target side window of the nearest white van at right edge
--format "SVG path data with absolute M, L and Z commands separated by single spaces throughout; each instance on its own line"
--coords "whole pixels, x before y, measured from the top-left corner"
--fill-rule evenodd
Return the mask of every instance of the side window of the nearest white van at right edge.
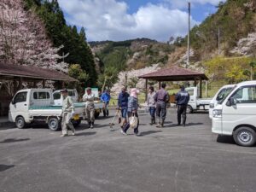
M 256 86 L 242 87 L 233 96 L 238 103 L 256 103 Z

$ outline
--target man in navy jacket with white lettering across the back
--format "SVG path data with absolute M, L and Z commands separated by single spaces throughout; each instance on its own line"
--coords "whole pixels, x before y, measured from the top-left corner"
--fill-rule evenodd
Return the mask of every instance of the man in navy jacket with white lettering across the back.
M 175 96 L 175 100 L 177 101 L 177 125 L 181 124 L 181 115 L 183 116 L 183 126 L 186 125 L 186 110 L 189 102 L 189 93 L 185 90 L 185 87 L 182 85 L 180 87 L 180 91 Z

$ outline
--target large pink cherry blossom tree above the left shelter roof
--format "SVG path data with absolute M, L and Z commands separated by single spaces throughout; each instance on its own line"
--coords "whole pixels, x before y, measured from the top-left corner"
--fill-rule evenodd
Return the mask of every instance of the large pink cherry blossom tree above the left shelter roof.
M 0 60 L 67 73 L 67 63 L 46 36 L 44 24 L 22 0 L 0 1 Z M 58 61 L 61 61 L 58 63 Z

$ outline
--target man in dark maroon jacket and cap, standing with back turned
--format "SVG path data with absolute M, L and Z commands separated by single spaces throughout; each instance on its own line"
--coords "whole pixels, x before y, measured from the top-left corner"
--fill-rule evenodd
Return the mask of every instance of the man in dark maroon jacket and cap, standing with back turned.
M 166 119 L 166 103 L 169 102 L 169 94 L 165 90 L 166 84 L 161 84 L 161 89 L 154 95 L 154 101 L 156 102 L 156 117 L 158 124 L 156 127 L 163 127 Z

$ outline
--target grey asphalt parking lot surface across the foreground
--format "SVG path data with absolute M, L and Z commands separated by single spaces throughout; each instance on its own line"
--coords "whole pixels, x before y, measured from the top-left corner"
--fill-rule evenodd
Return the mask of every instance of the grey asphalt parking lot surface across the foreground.
M 74 137 L 42 125 L 0 128 L 0 191 L 256 190 L 256 148 L 212 134 L 207 113 L 189 114 L 183 127 L 172 109 L 162 129 L 139 115 L 141 137 L 120 134 L 118 125 L 111 130 L 111 118 L 102 117 Z

